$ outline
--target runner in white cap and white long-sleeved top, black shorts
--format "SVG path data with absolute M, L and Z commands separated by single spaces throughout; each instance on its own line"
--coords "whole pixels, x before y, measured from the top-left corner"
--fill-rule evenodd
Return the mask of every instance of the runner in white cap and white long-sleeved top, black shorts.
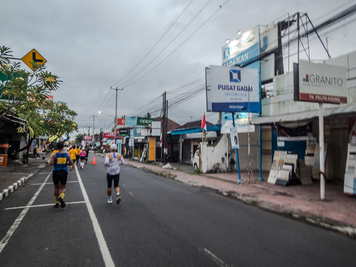
M 111 198 L 111 186 L 112 181 L 114 180 L 114 187 L 116 190 L 116 204 L 120 204 L 120 188 L 119 188 L 119 179 L 120 179 L 120 163 L 125 164 L 124 158 L 120 153 L 116 153 L 117 146 L 112 144 L 110 146 L 111 152 L 105 155 L 105 166 L 108 167 L 106 173 L 106 180 L 108 180 L 108 203 L 112 203 Z

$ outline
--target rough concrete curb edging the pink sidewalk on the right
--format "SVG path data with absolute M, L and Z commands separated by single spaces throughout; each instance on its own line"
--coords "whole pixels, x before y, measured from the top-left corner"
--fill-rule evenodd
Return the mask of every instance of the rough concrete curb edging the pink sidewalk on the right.
M 260 209 L 263 209 L 263 210 L 266 210 L 269 212 L 281 214 L 283 216 L 289 216 L 289 217 L 292 217 L 293 219 L 302 221 L 303 223 L 307 222 L 309 224 L 316 225 L 316 226 L 324 228 L 324 229 L 340 232 L 341 234 L 344 234 L 346 236 L 356 238 L 356 227 L 346 225 L 342 222 L 335 221 L 335 220 L 327 218 L 327 217 L 323 217 L 323 216 L 312 214 L 312 213 L 307 213 L 307 212 L 292 208 L 287 205 L 280 205 L 280 204 L 276 204 L 276 203 L 273 203 L 270 201 L 260 200 L 260 199 L 258 199 L 258 197 L 254 196 L 254 195 L 246 195 L 246 194 L 242 194 L 239 192 L 225 192 L 225 191 L 221 191 L 219 189 L 216 189 L 216 188 L 213 188 L 210 186 L 206 186 L 204 184 L 199 184 L 199 183 L 194 184 L 190 180 L 185 181 L 184 179 L 176 179 L 178 176 L 174 176 L 174 175 L 164 172 L 164 171 L 153 171 L 153 170 L 145 168 L 143 166 L 134 165 L 131 163 L 126 163 L 126 165 L 130 165 L 131 167 L 139 168 L 139 169 L 142 169 L 143 171 L 157 174 L 157 175 L 160 175 L 160 176 L 163 176 L 166 178 L 170 178 L 170 177 L 167 177 L 167 175 L 173 176 L 174 178 L 170 178 L 170 179 L 177 180 L 177 182 L 181 182 L 181 183 L 192 185 L 192 186 L 213 189 L 213 190 L 216 190 L 221 195 L 235 198 L 237 200 L 244 202 L 245 204 L 256 206 L 257 208 L 260 208 Z M 166 174 L 166 175 L 164 175 L 164 174 Z M 207 177 L 207 178 L 215 179 L 215 177 L 212 177 L 212 176 L 208 176 L 208 175 L 203 175 L 203 176 Z M 225 179 L 220 179 L 220 178 L 216 178 L 216 180 L 221 180 L 223 182 L 232 183 L 230 180 L 225 180 Z

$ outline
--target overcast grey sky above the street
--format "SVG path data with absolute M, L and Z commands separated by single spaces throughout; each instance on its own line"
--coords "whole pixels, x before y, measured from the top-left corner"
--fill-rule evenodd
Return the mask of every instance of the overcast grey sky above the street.
M 78 112 L 76 121 L 81 131 L 87 126 L 92 129 L 93 115 L 98 115 L 95 117 L 96 132 L 104 124 L 105 129 L 113 126 L 115 95 L 114 90 L 110 90 L 111 86 L 124 87 L 119 94 L 117 115 L 135 115 L 134 112 L 144 109 L 148 102 L 164 91 L 204 77 L 204 67 L 221 65 L 221 47 L 227 38 L 235 38 L 238 30 L 244 32 L 257 24 L 264 25 L 281 16 L 287 17 L 287 12 L 293 14 L 297 11 L 307 12 L 317 25 L 356 3 L 347 0 L 229 0 L 220 8 L 226 0 L 193 0 L 152 52 L 119 82 L 150 51 L 190 1 L 2 0 L 0 45 L 11 47 L 15 57 L 23 57 L 32 48 L 41 53 L 47 59 L 47 69 L 63 80 L 60 89 L 53 93 L 54 100 L 65 101 L 70 109 Z M 137 74 L 200 10 L 176 40 Z M 219 11 L 172 53 L 216 10 Z M 350 23 L 328 33 L 331 57 L 355 49 L 355 25 Z M 325 41 L 325 35 L 322 38 Z M 318 42 L 314 41 L 310 46 L 312 59 L 327 58 Z M 171 53 L 150 73 L 132 83 Z M 301 57 L 305 58 L 304 55 Z M 295 60 L 295 56 L 292 57 L 290 64 Z M 179 90 L 175 93 L 167 95 L 168 101 Z M 206 111 L 205 101 L 205 92 L 201 92 L 169 110 L 169 118 L 180 124 L 201 119 Z M 98 114 L 99 110 L 105 114 Z M 159 116 L 159 112 L 155 115 Z M 218 119 L 215 113 L 206 115 L 208 121 L 215 123 Z

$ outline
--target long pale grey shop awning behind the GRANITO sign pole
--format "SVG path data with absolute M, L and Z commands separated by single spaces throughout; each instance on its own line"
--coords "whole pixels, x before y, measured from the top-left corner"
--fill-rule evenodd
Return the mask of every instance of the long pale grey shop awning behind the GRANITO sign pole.
M 356 114 L 356 105 L 338 106 L 337 108 L 328 108 L 323 110 L 324 117 L 338 115 L 338 114 L 347 114 L 347 113 Z M 251 119 L 251 124 L 272 124 L 274 122 L 282 122 L 282 121 L 283 122 L 301 121 L 301 120 L 312 119 L 318 116 L 319 116 L 319 110 L 316 109 L 307 112 L 289 113 L 289 114 L 282 114 L 276 116 L 255 117 Z

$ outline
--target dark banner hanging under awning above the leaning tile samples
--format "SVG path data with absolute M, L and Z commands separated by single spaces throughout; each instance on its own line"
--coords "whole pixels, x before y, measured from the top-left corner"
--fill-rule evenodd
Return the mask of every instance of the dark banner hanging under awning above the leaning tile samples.
M 287 128 L 278 125 L 277 140 L 302 141 L 310 139 L 313 132 L 313 122 L 297 128 Z M 309 133 L 309 137 L 308 137 Z

